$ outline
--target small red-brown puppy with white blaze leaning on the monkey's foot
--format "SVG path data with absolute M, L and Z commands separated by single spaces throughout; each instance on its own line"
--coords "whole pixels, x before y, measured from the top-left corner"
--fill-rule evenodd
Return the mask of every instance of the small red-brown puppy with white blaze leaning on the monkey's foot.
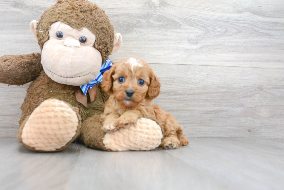
M 152 100 L 160 93 L 160 82 L 149 64 L 130 57 L 114 64 L 103 75 L 102 89 L 110 95 L 100 121 L 105 132 L 136 124 L 141 117 L 156 121 L 162 129 L 163 149 L 188 144 L 177 120 Z

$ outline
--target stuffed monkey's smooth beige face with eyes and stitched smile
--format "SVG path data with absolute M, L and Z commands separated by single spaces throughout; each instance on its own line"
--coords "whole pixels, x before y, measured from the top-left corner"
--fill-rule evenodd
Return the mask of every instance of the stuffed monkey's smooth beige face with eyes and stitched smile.
M 43 45 L 41 64 L 52 80 L 79 86 L 97 76 L 102 58 L 93 47 L 96 37 L 90 30 L 77 30 L 58 21 L 50 26 L 49 35 Z

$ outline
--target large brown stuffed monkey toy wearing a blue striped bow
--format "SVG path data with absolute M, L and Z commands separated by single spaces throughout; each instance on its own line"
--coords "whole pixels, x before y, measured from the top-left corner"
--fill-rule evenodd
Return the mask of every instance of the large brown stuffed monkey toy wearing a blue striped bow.
M 21 106 L 19 142 L 42 152 L 61 151 L 76 139 L 96 149 L 135 150 L 131 139 L 126 149 L 108 149 L 103 143 L 106 133 L 99 117 L 108 95 L 100 82 L 112 65 L 109 55 L 122 44 L 105 12 L 87 0 L 58 0 L 30 29 L 41 53 L 0 58 L 1 83 L 32 82 Z M 151 125 L 154 132 L 153 139 L 141 139 L 138 150 L 159 146 L 160 126 L 145 118 L 140 125 Z

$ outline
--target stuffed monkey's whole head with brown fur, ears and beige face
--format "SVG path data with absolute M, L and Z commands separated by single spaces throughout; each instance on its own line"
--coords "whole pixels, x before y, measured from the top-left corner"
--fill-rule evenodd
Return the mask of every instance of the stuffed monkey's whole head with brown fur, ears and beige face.
M 122 44 L 104 10 L 87 0 L 58 0 L 30 28 L 39 41 L 43 70 L 61 84 L 91 82 Z

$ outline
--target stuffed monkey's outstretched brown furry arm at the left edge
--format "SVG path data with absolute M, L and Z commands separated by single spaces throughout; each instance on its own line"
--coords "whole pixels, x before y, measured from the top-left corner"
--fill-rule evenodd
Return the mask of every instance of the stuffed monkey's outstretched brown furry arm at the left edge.
M 42 70 L 41 53 L 0 57 L 0 82 L 4 84 L 26 84 L 37 78 Z

